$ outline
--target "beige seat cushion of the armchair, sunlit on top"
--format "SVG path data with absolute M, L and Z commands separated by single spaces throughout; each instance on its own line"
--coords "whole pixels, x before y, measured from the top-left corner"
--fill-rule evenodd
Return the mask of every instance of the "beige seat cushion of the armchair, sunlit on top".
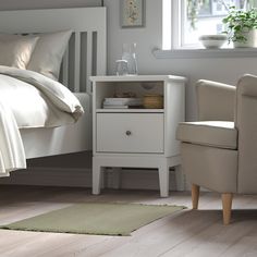
M 179 140 L 224 149 L 237 149 L 237 130 L 234 122 L 182 122 L 176 131 Z

